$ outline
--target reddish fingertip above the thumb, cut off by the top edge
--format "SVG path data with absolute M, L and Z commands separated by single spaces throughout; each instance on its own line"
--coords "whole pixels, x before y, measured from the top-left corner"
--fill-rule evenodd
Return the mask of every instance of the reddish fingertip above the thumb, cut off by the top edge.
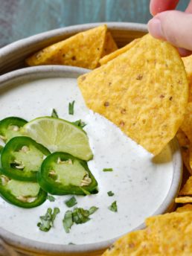
M 150 13 L 155 16 L 164 10 L 174 10 L 179 0 L 150 0 Z

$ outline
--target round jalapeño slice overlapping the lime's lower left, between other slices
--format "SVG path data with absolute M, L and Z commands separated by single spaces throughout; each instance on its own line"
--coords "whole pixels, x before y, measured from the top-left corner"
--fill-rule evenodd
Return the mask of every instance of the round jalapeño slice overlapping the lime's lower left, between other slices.
M 11 138 L 1 152 L 2 171 L 11 179 L 36 181 L 36 172 L 49 154 L 46 147 L 36 143 L 32 138 Z

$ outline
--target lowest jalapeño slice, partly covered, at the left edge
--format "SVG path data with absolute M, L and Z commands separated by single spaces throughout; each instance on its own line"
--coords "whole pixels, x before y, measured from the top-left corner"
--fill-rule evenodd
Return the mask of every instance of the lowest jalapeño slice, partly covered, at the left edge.
M 9 179 L 0 169 L 0 196 L 7 202 L 22 208 L 33 208 L 45 202 L 47 193 L 36 182 L 20 182 Z

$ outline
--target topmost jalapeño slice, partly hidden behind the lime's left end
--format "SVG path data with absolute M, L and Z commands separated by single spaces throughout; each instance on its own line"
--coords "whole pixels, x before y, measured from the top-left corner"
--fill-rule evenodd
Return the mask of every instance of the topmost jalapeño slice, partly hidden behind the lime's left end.
M 22 135 L 20 128 L 28 123 L 22 118 L 10 117 L 0 121 L 0 138 L 7 142 L 10 138 Z

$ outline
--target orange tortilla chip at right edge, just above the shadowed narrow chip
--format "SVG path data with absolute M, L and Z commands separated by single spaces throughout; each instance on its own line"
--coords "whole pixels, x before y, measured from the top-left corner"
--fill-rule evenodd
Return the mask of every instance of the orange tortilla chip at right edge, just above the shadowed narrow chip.
M 188 136 L 189 141 L 192 143 L 192 102 L 188 103 L 184 121 L 182 123 L 181 129 Z

